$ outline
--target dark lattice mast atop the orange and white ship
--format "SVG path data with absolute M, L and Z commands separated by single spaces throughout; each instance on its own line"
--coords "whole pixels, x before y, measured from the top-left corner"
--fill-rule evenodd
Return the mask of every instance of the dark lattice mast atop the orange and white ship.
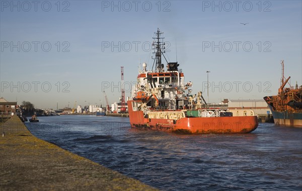
M 163 52 L 165 52 L 165 43 L 163 42 L 164 37 L 160 37 L 163 32 L 160 31 L 160 29 L 158 28 L 157 32 L 155 33 L 156 37 L 153 37 L 153 48 L 154 49 L 154 54 L 155 54 L 155 58 L 154 58 L 154 63 L 155 65 L 155 70 L 156 72 L 164 72 L 164 65 L 162 64 L 162 54 Z M 165 56 L 164 56 L 165 57 Z M 154 67 L 154 63 L 153 63 L 153 67 Z M 153 70 L 152 67 L 152 70 Z

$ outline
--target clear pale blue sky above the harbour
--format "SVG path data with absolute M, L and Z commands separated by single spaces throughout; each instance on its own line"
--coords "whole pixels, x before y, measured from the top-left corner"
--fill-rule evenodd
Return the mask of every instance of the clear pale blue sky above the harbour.
M 139 63 L 152 67 L 147 50 L 158 27 L 169 61 L 176 61 L 177 42 L 177 61 L 193 93 L 206 92 L 210 71 L 210 102 L 277 94 L 282 59 L 291 85 L 302 85 L 301 1 L 38 1 L 36 7 L 31 1 L 1 1 L 0 6 L 0 93 L 9 101 L 26 100 L 38 108 L 105 104 L 105 84 L 109 101 L 118 101 L 120 67 L 127 84 L 136 81 Z

